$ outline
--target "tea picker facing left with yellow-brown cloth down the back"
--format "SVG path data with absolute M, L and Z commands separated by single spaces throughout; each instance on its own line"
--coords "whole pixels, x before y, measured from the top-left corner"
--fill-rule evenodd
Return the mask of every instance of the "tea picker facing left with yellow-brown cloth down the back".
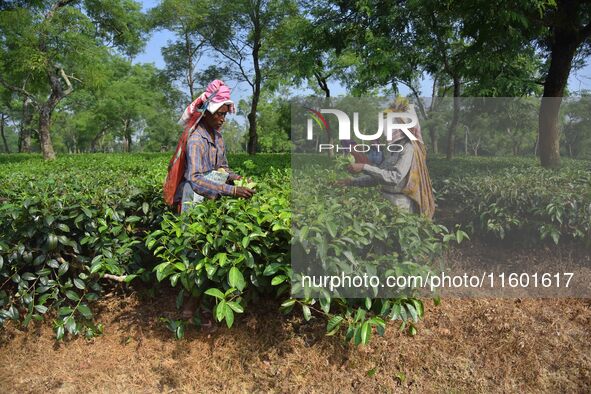
M 408 110 L 408 102 L 398 99 L 384 112 Z M 425 144 L 420 126 L 417 125 L 410 131 L 417 141 L 411 141 L 401 130 L 396 130 L 388 143 L 402 145 L 402 151 L 385 150 L 383 160 L 377 166 L 362 163 L 351 164 L 348 171 L 362 175 L 340 180 L 337 184 L 359 187 L 381 185 L 382 195 L 392 204 L 411 213 L 420 213 L 432 219 L 435 213 L 435 200 L 427 169 Z

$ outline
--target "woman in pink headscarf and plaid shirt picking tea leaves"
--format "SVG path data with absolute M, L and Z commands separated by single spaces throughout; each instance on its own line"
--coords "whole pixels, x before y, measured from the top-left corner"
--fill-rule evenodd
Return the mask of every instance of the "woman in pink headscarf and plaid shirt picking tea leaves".
M 202 96 L 195 101 L 212 99 L 188 136 L 186 169 L 175 195 L 175 201 L 182 203 L 181 211 L 186 211 L 191 204 L 203 198 L 217 199 L 220 196 L 250 198 L 255 193 L 252 189 L 233 185 L 233 182 L 241 179 L 241 176 L 230 170 L 226 158 L 226 148 L 220 131 L 228 112 L 234 112 L 234 102 L 230 100 L 230 89 L 222 81 L 215 80 L 208 85 Z M 197 110 L 191 107 L 195 107 L 194 103 L 187 108 L 179 123 L 188 120 L 191 112 Z M 226 183 L 217 183 L 208 176 L 211 171 L 221 169 L 228 173 Z

